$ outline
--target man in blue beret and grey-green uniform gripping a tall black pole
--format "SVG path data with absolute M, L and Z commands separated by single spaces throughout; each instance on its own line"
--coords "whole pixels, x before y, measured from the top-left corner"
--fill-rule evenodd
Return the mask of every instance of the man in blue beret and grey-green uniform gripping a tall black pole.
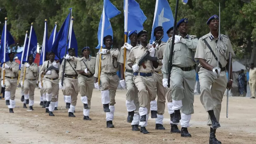
M 175 35 L 172 70 L 170 84 L 172 85 L 172 110 L 174 117 L 171 124 L 178 124 L 181 119 L 181 137 L 191 137 L 188 133 L 191 114 L 194 113 L 194 87 L 196 81 L 195 60 L 193 52 L 196 51 L 198 39 L 188 35 L 188 19 L 183 18 L 177 23 L 179 35 Z M 167 41 L 163 57 L 163 85 L 167 88 L 169 70 L 169 56 L 171 53 L 172 38 Z M 180 113 L 180 110 L 182 114 Z

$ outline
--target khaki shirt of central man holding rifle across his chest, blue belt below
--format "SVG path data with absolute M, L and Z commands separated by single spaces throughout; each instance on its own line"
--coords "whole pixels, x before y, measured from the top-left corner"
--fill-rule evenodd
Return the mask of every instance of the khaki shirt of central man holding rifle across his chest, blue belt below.
M 128 56 L 127 63 L 128 64 L 130 64 L 130 63 L 138 64 L 140 59 L 144 56 L 144 54 L 146 53 L 147 50 L 148 50 L 148 46 L 147 46 L 147 48 L 145 48 L 142 45 L 133 47 Z M 154 67 L 153 67 L 152 61 L 145 60 L 144 64 L 145 64 L 146 68 L 144 69 L 143 66 L 141 65 L 139 68 L 139 71 L 137 71 L 137 72 L 154 73 Z

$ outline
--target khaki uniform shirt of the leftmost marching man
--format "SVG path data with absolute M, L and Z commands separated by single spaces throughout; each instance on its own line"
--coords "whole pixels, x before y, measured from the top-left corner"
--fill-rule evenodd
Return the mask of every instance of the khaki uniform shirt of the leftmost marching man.
M 19 71 L 19 64 L 17 62 L 15 62 L 14 60 L 11 61 L 7 61 L 6 64 L 8 66 L 10 66 L 10 68 L 12 68 L 12 71 L 10 69 L 5 69 L 5 75 L 3 75 L 3 69 L 1 72 L 2 78 L 3 76 L 8 76 L 8 77 L 12 77 L 12 78 L 16 78 L 18 76 L 18 71 Z

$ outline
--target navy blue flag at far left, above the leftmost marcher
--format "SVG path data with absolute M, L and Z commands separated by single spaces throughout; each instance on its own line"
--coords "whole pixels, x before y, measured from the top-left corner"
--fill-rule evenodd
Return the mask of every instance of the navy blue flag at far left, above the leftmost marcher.
M 9 50 L 8 50 L 8 47 L 12 44 L 14 44 L 14 39 L 11 35 L 11 33 L 6 30 L 6 53 L 5 53 L 5 61 L 4 61 L 4 30 L 5 30 L 5 26 L 3 26 L 3 32 L 2 32 L 2 37 L 1 37 L 1 50 L 0 50 L 0 60 L 1 60 L 1 63 L 3 62 L 6 62 L 6 61 L 9 61 L 9 57 L 8 57 L 8 53 L 9 53 Z

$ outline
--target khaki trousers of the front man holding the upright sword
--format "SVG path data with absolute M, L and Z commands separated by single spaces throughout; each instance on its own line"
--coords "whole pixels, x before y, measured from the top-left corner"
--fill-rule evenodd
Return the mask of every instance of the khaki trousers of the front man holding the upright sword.
M 227 87 L 226 72 L 222 71 L 220 77 L 216 78 L 212 71 L 200 68 L 198 72 L 200 83 L 200 100 L 206 112 L 213 110 L 217 121 L 220 121 L 221 102 Z M 211 86 L 211 88 L 210 88 Z M 207 125 L 211 125 L 208 116 Z

